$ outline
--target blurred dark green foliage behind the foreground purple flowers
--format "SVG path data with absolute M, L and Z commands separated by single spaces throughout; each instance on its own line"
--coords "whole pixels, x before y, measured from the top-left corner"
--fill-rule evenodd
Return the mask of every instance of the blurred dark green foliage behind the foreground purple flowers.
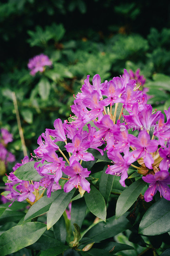
M 166 7 L 165 7 L 166 6 Z M 11 92 L 15 91 L 28 152 L 45 128 L 71 114 L 73 93 L 89 74 L 112 79 L 123 68 L 146 77 L 153 107 L 170 105 L 170 25 L 167 2 L 5 0 L 0 3 L 0 126 L 14 135 L 22 159 Z M 27 63 L 44 53 L 51 68 L 35 76 Z

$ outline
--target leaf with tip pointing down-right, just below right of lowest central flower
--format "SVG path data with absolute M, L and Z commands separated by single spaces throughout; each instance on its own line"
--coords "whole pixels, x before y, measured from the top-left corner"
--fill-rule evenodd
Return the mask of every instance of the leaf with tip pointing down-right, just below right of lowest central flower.
M 90 212 L 92 212 L 98 218 L 106 221 L 106 204 L 99 190 L 97 190 L 97 188 L 94 186 L 91 186 L 90 192 L 87 193 L 86 191 L 84 197 Z

